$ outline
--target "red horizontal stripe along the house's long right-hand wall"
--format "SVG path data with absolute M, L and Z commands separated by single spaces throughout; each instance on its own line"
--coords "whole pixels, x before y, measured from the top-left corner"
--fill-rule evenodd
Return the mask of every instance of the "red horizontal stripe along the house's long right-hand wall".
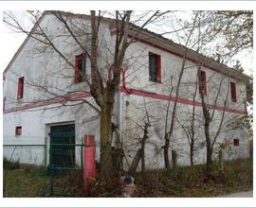
M 159 95 L 159 94 L 149 93 L 149 92 L 145 92 L 145 91 L 139 91 L 139 90 L 135 90 L 135 89 L 128 89 L 128 88 L 124 88 L 124 87 L 121 88 L 121 92 L 126 93 L 126 94 L 146 96 L 146 97 L 162 99 L 162 100 L 169 100 L 169 99 L 171 101 L 175 100 L 174 96 L 169 97 L 168 95 Z M 195 101 L 193 103 L 192 100 L 184 99 L 184 98 L 180 98 L 180 97 L 177 98 L 177 102 L 182 103 L 182 104 L 187 104 L 187 105 L 202 106 L 201 102 Z M 222 107 L 222 106 L 207 105 L 207 107 L 210 108 L 210 109 L 216 109 L 216 110 L 219 110 L 219 111 L 225 110 L 226 112 L 229 112 L 229 113 L 246 114 L 246 112 L 244 112 L 244 111 L 225 108 L 225 107 Z

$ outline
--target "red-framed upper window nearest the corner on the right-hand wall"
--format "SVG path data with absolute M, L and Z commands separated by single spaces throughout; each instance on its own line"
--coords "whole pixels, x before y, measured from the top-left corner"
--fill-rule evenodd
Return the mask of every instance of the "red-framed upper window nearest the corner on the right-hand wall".
M 159 55 L 149 53 L 149 76 L 154 82 L 161 82 L 161 57 Z

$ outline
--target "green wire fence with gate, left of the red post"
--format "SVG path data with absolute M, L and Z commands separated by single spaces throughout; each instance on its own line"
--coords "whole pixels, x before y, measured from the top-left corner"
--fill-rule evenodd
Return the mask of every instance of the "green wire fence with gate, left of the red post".
M 23 190 L 22 178 L 35 180 L 41 190 L 37 197 L 80 197 L 82 196 L 82 140 L 76 144 L 72 138 L 51 142 L 46 137 L 4 136 L 4 196 L 29 197 L 34 193 Z M 21 172 L 19 170 L 27 170 Z M 12 171 L 10 170 L 12 169 Z M 18 171 L 18 172 L 17 172 Z M 13 175 L 17 172 L 19 175 Z M 13 182 L 21 180 L 21 185 L 14 189 Z M 37 183 L 39 182 L 39 183 Z M 14 184 L 15 185 L 15 184 Z M 34 184 L 29 184 L 33 189 Z M 23 195 L 27 193 L 27 195 Z M 15 196 L 13 196 L 13 194 Z

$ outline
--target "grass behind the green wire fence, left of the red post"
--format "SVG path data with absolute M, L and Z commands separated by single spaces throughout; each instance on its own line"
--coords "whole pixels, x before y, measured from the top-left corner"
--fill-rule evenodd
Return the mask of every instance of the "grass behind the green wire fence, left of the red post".
M 42 166 L 21 165 L 4 160 L 4 197 L 82 197 L 81 171 L 57 173 L 53 192 L 50 191 L 49 169 Z

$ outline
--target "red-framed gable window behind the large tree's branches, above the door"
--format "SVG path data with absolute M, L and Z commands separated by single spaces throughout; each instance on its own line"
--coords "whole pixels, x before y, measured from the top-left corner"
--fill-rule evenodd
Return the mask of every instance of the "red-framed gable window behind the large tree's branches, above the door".
M 76 56 L 75 83 L 84 81 L 85 73 L 86 73 L 86 55 L 81 54 Z

